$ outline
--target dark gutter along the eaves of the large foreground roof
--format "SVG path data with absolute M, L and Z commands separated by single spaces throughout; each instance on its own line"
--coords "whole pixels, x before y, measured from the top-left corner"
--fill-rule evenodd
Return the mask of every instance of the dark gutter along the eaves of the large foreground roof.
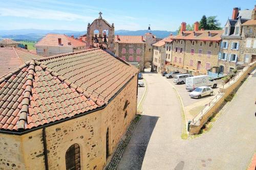
M 129 81 L 127 81 L 123 86 L 122 88 L 120 88 L 113 96 L 112 98 L 108 101 L 108 104 L 113 100 L 115 99 L 115 97 L 124 89 L 124 87 L 131 82 L 131 80 L 135 77 L 136 75 L 134 75 Z M 138 89 L 138 88 L 137 88 Z M 39 126 L 39 127 L 36 127 L 36 128 L 33 128 L 33 129 L 29 129 L 29 130 L 26 130 L 26 131 L 22 131 L 22 132 L 13 132 L 13 131 L 3 131 L 3 130 L 0 130 L 0 133 L 4 133 L 4 134 L 12 134 L 12 135 L 23 135 L 23 134 L 27 134 L 29 132 L 33 132 L 33 131 L 36 131 L 38 129 L 41 129 L 41 128 L 46 128 L 46 127 L 50 127 L 50 126 L 53 126 L 53 125 L 57 125 L 57 124 L 60 124 L 62 122 L 66 122 L 68 120 L 71 120 L 71 119 L 74 119 L 74 118 L 77 118 L 77 117 L 81 117 L 81 116 L 84 116 L 86 114 L 90 114 L 90 113 L 93 113 L 93 112 L 96 112 L 96 111 L 99 111 L 99 110 L 102 110 L 104 109 L 106 106 L 108 106 L 108 104 L 104 104 L 102 107 L 99 107 L 97 109 L 94 109 L 94 110 L 91 110 L 91 111 L 88 111 L 88 112 L 84 112 L 84 113 L 81 113 L 81 114 L 77 114 L 73 117 L 69 117 L 69 118 L 65 118 L 65 119 L 61 119 L 61 120 L 58 120 L 57 122 L 52 122 L 52 123 L 49 123 L 49 124 L 46 124 L 46 125 L 42 125 L 42 126 Z

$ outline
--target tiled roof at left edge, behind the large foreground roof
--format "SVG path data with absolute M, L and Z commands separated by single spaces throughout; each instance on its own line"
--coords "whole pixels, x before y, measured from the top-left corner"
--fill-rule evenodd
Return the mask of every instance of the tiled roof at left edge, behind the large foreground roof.
M 0 47 L 0 78 L 35 58 L 41 58 L 41 56 L 19 47 Z

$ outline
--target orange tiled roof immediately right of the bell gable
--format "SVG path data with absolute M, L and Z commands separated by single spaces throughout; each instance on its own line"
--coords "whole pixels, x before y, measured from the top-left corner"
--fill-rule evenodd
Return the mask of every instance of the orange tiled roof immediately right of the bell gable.
M 117 37 L 120 39 L 118 40 Z M 143 36 L 132 36 L 132 35 L 116 35 L 115 41 L 118 43 L 145 43 Z

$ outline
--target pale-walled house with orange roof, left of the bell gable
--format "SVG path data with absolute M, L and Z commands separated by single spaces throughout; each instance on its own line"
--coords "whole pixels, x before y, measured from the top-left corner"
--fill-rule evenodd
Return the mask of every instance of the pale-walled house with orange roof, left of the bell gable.
M 41 56 L 54 56 L 86 50 L 86 43 L 62 34 L 47 34 L 35 44 L 36 54 Z

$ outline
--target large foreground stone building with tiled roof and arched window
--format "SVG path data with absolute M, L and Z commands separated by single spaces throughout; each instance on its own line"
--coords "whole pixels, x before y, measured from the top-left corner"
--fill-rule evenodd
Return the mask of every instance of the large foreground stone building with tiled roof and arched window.
M 93 48 L 0 78 L 0 169 L 103 169 L 136 114 L 137 76 Z

